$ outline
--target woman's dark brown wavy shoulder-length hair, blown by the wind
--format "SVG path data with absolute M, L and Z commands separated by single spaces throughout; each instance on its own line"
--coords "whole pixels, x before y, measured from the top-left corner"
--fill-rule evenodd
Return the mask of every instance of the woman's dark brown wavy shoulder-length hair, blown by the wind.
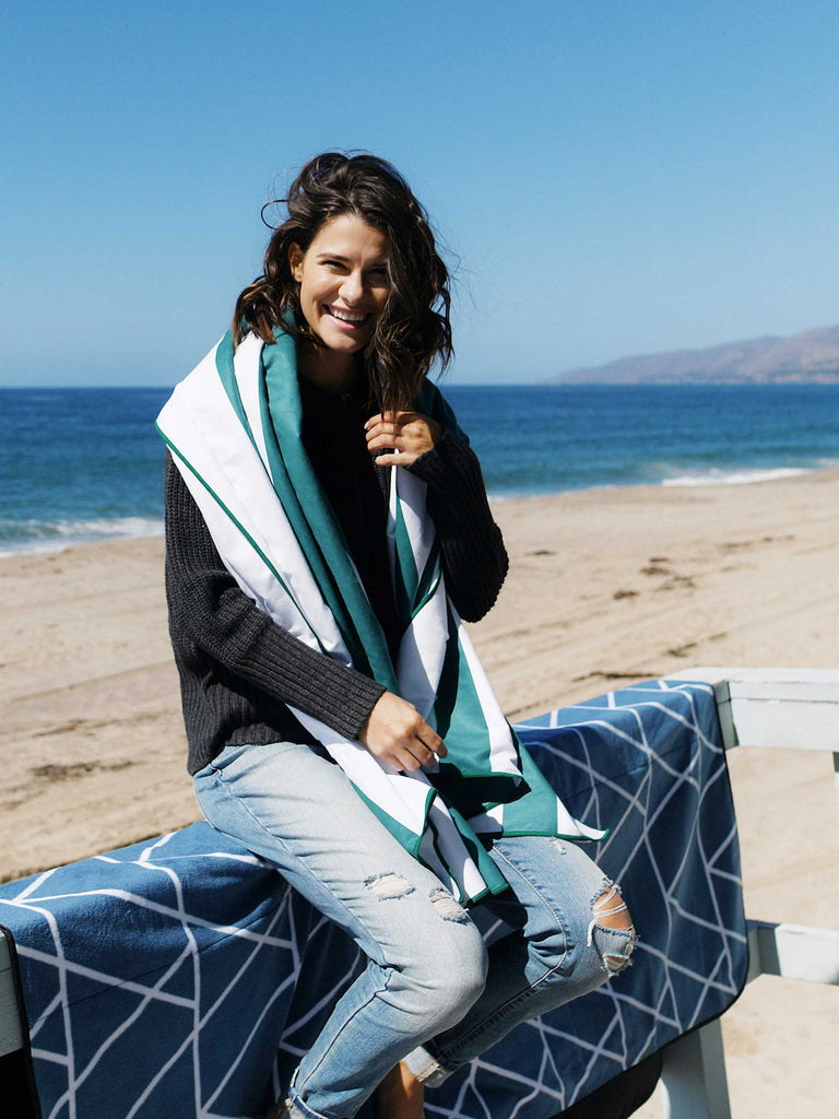
M 395 167 L 366 153 L 315 156 L 282 201 L 289 216 L 274 228 L 264 272 L 236 301 L 234 342 L 248 330 L 273 342 L 280 329 L 312 346 L 323 345 L 301 311 L 289 250 L 296 244 L 305 253 L 324 223 L 356 215 L 380 229 L 388 244 L 387 302 L 362 354 L 370 396 L 381 408 L 409 407 L 435 360 L 445 368 L 452 357 L 449 271 L 427 214 Z

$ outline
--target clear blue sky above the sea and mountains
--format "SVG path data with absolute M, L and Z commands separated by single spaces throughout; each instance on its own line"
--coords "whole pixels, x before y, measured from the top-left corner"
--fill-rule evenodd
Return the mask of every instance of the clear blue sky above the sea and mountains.
M 332 148 L 459 262 L 455 384 L 839 322 L 836 0 L 28 0 L 2 40 L 0 384 L 173 384 Z

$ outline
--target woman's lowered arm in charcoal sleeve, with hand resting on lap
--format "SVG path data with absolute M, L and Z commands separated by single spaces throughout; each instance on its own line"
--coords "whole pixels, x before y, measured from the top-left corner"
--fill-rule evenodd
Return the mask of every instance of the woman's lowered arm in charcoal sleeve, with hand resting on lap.
M 166 571 L 172 640 L 281 703 L 320 720 L 396 769 L 445 752 L 416 708 L 383 685 L 311 649 L 247 598 L 221 562 L 180 471 L 166 457 Z M 441 747 L 437 750 L 437 744 Z

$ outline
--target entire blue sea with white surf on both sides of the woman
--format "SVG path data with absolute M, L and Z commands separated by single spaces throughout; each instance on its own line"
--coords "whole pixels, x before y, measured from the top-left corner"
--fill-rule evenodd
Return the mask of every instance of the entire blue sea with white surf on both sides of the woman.
M 839 385 L 444 386 L 492 497 L 839 466 Z M 0 389 L 0 555 L 162 533 L 168 388 Z

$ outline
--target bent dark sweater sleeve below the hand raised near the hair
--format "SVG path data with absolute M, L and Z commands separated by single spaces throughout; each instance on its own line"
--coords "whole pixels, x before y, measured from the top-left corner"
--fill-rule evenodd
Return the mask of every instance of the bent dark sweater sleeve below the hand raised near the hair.
M 492 519 L 478 457 L 453 432 L 407 467 L 427 486 L 446 590 L 460 615 L 475 622 L 493 605 L 509 560 Z

